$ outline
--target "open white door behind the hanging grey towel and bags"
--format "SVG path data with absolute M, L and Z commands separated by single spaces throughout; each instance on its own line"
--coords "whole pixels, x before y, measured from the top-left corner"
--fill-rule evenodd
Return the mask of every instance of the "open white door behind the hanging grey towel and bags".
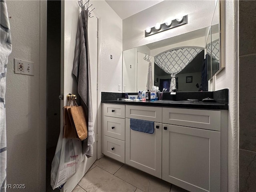
M 76 46 L 76 31 L 78 28 L 79 14 L 81 11 L 78 1 L 62 1 L 62 26 L 61 26 L 61 92 L 64 94 L 64 100 L 61 100 L 61 112 L 63 106 L 67 105 L 66 95 L 77 93 L 77 82 L 75 76 L 72 74 L 74 52 Z M 93 12 L 92 12 L 93 15 Z M 94 133 L 97 133 L 97 57 L 98 57 L 98 18 L 94 15 L 88 18 L 88 42 L 91 66 L 91 82 L 92 82 L 92 107 L 94 120 Z M 63 117 L 63 115 L 61 115 Z M 61 126 L 63 128 L 63 120 L 61 119 Z M 93 145 L 93 156 L 85 157 L 78 172 L 72 176 L 64 185 L 64 192 L 71 192 L 78 184 L 84 174 L 88 171 L 90 166 L 97 158 L 97 142 Z

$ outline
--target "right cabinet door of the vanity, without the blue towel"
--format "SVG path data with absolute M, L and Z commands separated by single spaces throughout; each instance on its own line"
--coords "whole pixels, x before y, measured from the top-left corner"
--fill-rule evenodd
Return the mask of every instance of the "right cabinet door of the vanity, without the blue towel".
M 162 179 L 191 192 L 220 191 L 220 132 L 162 126 Z

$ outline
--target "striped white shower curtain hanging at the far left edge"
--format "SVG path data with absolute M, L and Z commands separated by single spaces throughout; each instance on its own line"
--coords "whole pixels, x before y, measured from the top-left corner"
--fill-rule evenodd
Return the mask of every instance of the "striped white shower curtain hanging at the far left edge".
M 0 59 L 0 191 L 6 191 L 6 119 L 5 119 L 5 90 L 6 90 L 6 68 L 8 56 L 12 52 L 10 24 L 6 1 L 0 1 L 1 8 L 1 59 Z

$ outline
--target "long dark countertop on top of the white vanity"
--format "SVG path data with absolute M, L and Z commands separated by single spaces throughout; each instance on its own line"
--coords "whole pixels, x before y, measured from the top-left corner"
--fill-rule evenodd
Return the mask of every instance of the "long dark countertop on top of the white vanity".
M 157 106 L 173 108 L 192 108 L 192 109 L 209 109 L 209 110 L 228 110 L 228 105 L 220 103 L 207 103 L 202 101 L 190 103 L 161 103 L 154 101 L 124 101 L 124 100 L 102 100 L 102 103 L 140 105 L 140 106 Z

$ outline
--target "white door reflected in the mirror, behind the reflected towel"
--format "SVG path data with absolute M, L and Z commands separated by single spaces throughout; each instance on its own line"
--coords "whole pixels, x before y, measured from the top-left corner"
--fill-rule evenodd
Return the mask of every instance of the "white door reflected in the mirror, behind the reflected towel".
M 148 78 L 148 61 L 144 60 L 145 54 L 141 52 L 137 52 L 137 92 L 146 90 L 147 78 Z M 154 57 L 149 56 L 151 58 L 151 66 L 152 66 L 152 82 L 154 85 Z M 148 88 L 151 90 L 152 87 Z

